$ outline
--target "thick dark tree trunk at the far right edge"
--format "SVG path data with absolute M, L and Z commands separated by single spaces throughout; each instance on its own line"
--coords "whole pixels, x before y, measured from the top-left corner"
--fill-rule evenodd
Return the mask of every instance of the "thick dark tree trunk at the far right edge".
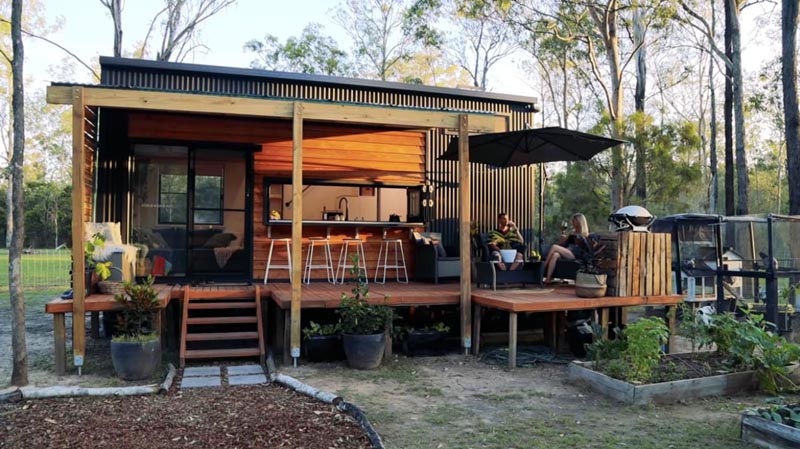
M 797 0 L 783 0 L 783 114 L 786 132 L 786 165 L 789 181 L 789 214 L 800 214 L 800 118 L 797 105 Z

